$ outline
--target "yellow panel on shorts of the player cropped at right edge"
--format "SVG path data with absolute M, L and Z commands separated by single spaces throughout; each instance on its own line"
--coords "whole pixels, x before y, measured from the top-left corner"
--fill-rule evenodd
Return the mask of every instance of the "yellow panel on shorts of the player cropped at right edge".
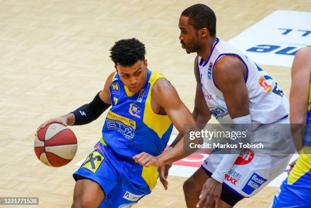
M 309 154 L 306 154 L 309 153 Z M 299 158 L 291 170 L 287 183 L 289 185 L 294 184 L 302 175 L 311 169 L 311 146 L 305 146 L 299 153 Z

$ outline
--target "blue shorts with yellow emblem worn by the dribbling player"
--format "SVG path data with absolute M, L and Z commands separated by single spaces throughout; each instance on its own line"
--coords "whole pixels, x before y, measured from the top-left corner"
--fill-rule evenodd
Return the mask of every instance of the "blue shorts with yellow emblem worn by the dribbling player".
M 82 176 L 100 185 L 105 198 L 99 207 L 128 208 L 151 192 L 158 175 L 157 168 L 145 168 L 98 142 L 73 177 L 77 181 Z

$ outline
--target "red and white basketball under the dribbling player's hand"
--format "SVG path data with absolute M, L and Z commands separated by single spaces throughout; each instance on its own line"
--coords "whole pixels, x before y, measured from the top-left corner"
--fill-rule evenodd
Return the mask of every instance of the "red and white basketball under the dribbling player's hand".
M 44 164 L 60 167 L 76 155 L 77 138 L 73 131 L 61 124 L 50 124 L 40 129 L 35 138 L 35 153 Z

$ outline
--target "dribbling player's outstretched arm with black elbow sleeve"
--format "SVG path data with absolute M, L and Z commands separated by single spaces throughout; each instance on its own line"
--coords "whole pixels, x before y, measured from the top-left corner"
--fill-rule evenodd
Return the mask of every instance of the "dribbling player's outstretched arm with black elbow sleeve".
M 73 126 L 88 124 L 96 120 L 111 105 L 109 86 L 113 75 L 114 73 L 108 76 L 104 89 L 100 91 L 90 103 L 82 105 L 67 115 L 52 118 L 51 120 L 41 124 L 38 127 L 37 132 L 46 125 L 53 123 L 60 123 L 64 126 Z

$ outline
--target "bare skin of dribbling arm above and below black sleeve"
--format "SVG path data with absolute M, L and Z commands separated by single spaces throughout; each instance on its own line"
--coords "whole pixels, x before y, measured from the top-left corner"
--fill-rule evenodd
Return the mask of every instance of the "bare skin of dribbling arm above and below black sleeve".
M 101 98 L 101 100 L 104 102 L 104 103 L 107 103 L 107 104 L 111 104 L 110 102 L 110 92 L 109 92 L 109 86 L 110 86 L 110 83 L 111 83 L 111 79 L 114 75 L 114 72 L 111 73 L 106 82 L 105 82 L 105 85 L 104 85 L 104 88 L 103 90 L 100 92 L 99 96 Z M 38 129 L 37 129 L 37 132 L 44 128 L 45 126 L 49 125 L 49 124 L 53 124 L 53 123 L 59 123 L 59 124 L 63 124 L 64 126 L 72 126 L 74 125 L 75 123 L 75 115 L 73 113 L 68 113 L 66 115 L 63 115 L 63 116 L 59 116 L 59 117 L 56 117 L 56 118 L 52 118 L 50 119 L 49 121 L 41 124 Z

